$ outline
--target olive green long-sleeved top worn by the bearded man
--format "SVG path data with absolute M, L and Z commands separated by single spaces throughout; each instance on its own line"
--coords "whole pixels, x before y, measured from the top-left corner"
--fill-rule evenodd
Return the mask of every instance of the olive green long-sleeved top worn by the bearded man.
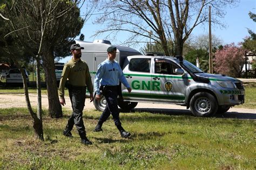
M 66 80 L 72 86 L 86 86 L 89 93 L 93 93 L 91 75 L 87 63 L 83 60 L 75 61 L 73 58 L 64 65 L 62 77 L 59 82 L 59 96 L 64 97 L 64 88 Z

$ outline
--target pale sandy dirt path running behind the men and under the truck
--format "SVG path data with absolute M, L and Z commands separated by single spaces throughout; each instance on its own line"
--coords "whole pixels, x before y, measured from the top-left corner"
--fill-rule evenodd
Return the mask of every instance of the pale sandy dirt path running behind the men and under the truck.
M 37 106 L 37 95 L 30 94 L 30 102 L 33 107 Z M 66 97 L 66 105 L 64 108 L 71 110 L 71 103 L 69 97 Z M 0 108 L 19 108 L 26 107 L 25 97 L 23 94 L 0 94 Z M 48 98 L 46 95 L 42 95 L 42 107 L 48 108 Z M 86 98 L 85 101 L 85 110 L 95 109 L 93 103 L 90 103 L 90 99 Z M 166 111 L 166 110 L 186 110 L 185 107 L 181 107 L 179 105 L 174 104 L 152 104 L 152 103 L 139 103 L 136 107 L 136 110 L 141 111 Z M 228 112 L 238 112 L 238 113 L 246 113 L 246 114 L 256 114 L 256 110 L 254 109 L 245 109 L 245 108 L 231 108 Z

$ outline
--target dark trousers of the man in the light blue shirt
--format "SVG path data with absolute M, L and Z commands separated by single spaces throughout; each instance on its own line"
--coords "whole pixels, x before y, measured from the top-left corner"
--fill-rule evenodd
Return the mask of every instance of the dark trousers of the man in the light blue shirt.
M 105 122 L 111 114 L 113 116 L 114 124 L 119 129 L 119 127 L 122 126 L 119 119 L 119 110 L 117 105 L 118 86 L 104 86 L 102 91 L 106 98 L 107 104 L 105 110 L 102 112 L 102 115 L 99 118 L 99 122 Z

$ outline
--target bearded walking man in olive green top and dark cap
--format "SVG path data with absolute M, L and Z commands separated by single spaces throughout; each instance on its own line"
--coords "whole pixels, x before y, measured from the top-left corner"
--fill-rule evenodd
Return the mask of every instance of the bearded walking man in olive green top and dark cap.
M 91 76 L 87 63 L 81 60 L 81 49 L 79 44 L 72 44 L 70 51 L 73 55 L 72 59 L 65 64 L 62 72 L 62 77 L 59 83 L 59 96 L 60 104 L 64 106 L 64 86 L 66 80 L 69 79 L 67 87 L 69 89 L 69 97 L 72 104 L 73 112 L 69 118 L 68 124 L 63 131 L 64 136 L 72 137 L 71 130 L 73 125 L 76 125 L 81 142 L 86 145 L 91 145 L 91 141 L 87 139 L 84 122 L 83 122 L 83 109 L 86 95 L 86 88 L 90 93 L 90 99 L 93 100 L 93 86 L 91 82 Z

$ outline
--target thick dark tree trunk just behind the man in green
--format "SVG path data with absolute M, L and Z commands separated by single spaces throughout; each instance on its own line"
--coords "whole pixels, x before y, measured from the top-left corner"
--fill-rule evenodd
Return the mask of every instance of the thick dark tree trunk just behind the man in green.
M 43 67 L 48 92 L 49 115 L 52 118 L 62 117 L 62 107 L 59 103 L 58 88 L 55 75 L 53 52 L 48 48 L 43 50 Z

